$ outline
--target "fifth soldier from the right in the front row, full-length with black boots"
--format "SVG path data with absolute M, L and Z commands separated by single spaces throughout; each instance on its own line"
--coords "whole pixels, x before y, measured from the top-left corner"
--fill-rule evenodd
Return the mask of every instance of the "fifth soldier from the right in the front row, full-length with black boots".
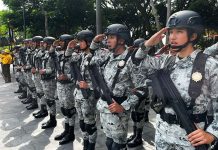
M 57 60 L 57 54 L 55 48 L 51 43 L 45 40 L 44 42 L 45 54 L 42 55 L 42 68 L 39 70 L 42 80 L 42 88 L 44 92 L 44 98 L 49 110 L 49 121 L 42 124 L 42 129 L 56 127 L 56 69 L 55 61 Z

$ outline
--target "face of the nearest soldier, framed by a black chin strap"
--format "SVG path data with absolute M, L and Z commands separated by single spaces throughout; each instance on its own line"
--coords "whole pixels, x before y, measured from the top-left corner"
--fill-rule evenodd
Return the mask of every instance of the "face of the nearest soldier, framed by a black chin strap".
M 180 46 L 188 41 L 188 32 L 184 28 L 173 28 L 169 30 L 169 42 L 172 46 Z

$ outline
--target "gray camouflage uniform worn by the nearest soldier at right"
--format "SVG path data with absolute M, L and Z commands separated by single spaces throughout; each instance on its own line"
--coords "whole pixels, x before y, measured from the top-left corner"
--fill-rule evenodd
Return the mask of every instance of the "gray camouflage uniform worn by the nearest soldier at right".
M 196 54 L 200 50 L 195 50 L 190 56 L 179 59 L 170 55 L 162 55 L 159 59 L 152 58 L 146 55 L 147 49 L 142 51 L 138 50 L 136 57 L 143 58 L 144 67 L 150 69 L 161 69 L 168 66 L 172 70 L 171 79 L 180 92 L 184 102 L 189 105 L 191 97 L 188 94 L 188 87 L 190 83 L 193 61 Z M 169 64 L 169 65 L 167 65 Z M 202 85 L 202 93 L 197 97 L 195 106 L 193 108 L 193 114 L 202 114 L 208 110 L 210 101 L 213 102 L 213 107 L 217 106 L 218 96 L 218 62 L 209 57 L 205 65 L 205 81 Z M 216 109 L 215 109 L 216 110 Z M 167 106 L 164 111 L 169 114 L 175 114 L 174 110 Z M 214 112 L 213 122 L 206 128 L 206 131 L 218 137 L 218 120 L 217 111 Z M 205 122 L 196 124 L 199 128 L 204 129 Z M 156 149 L 168 150 L 168 149 L 181 149 L 181 150 L 194 150 L 195 148 L 187 139 L 186 131 L 178 124 L 168 124 L 163 121 L 158 114 L 156 117 L 156 133 L 155 133 Z

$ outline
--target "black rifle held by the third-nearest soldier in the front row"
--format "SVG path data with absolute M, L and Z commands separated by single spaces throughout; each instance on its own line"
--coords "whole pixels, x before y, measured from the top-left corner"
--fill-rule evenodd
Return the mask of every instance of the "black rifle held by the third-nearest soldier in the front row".
M 83 76 L 82 76 L 82 74 L 80 72 L 80 69 L 79 69 L 79 67 L 77 65 L 77 62 L 72 62 L 71 63 L 71 70 L 72 70 L 71 72 L 74 73 L 74 76 L 76 77 L 75 79 L 77 81 L 79 81 L 79 82 L 84 81 Z M 85 99 L 87 99 L 88 96 L 89 96 L 87 89 L 81 89 L 81 92 L 82 92 L 83 97 Z

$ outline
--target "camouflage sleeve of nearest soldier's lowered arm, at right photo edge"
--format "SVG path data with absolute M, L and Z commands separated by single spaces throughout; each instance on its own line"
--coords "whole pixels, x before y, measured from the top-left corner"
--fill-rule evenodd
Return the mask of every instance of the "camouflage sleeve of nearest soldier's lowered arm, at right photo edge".
M 209 60 L 212 59 L 209 58 Z M 210 97 L 212 99 L 212 104 L 214 108 L 214 120 L 207 127 L 206 131 L 218 138 L 218 62 L 213 59 L 212 61 L 209 61 L 208 66 L 210 66 L 209 89 Z

